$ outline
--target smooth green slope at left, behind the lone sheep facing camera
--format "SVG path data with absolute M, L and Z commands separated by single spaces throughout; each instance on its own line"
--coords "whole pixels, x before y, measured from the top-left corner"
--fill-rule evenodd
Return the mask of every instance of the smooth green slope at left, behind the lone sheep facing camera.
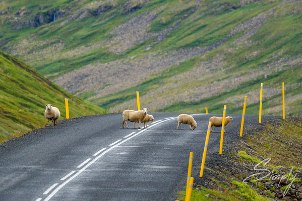
M 0 52 L 0 97 L 0 141 L 45 125 L 46 104 L 57 107 L 61 119 L 66 118 L 65 98 L 69 98 L 71 117 L 105 112 L 3 52 Z

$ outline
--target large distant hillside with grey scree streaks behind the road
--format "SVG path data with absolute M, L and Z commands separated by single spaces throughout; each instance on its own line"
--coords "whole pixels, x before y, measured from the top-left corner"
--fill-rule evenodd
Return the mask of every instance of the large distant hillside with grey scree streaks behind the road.
M 0 1 L 0 48 L 111 112 L 302 112 L 301 1 Z M 189 80 L 189 81 L 188 81 Z

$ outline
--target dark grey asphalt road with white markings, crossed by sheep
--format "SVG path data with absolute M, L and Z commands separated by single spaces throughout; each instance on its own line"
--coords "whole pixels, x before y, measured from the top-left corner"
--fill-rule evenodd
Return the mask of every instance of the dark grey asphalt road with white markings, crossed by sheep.
M 149 129 L 122 129 L 120 113 L 87 116 L 1 144 L 0 200 L 175 200 L 190 152 L 200 164 L 209 118 L 221 115 L 195 114 L 191 131 L 176 129 L 179 113 L 151 114 Z M 230 116 L 226 139 L 239 135 L 241 115 Z M 220 128 L 213 130 L 208 150 L 219 152 Z

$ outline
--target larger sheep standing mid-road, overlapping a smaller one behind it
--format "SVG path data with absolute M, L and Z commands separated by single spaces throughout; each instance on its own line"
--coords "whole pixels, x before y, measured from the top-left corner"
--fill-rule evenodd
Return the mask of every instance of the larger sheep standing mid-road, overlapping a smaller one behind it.
M 139 128 L 141 128 L 141 122 L 145 119 L 147 115 L 147 108 L 143 108 L 140 111 L 134 111 L 134 110 L 125 110 L 123 112 L 123 126 L 122 128 L 124 129 L 124 123 L 126 123 L 126 127 L 129 129 L 127 121 L 130 122 L 138 122 L 139 123 Z

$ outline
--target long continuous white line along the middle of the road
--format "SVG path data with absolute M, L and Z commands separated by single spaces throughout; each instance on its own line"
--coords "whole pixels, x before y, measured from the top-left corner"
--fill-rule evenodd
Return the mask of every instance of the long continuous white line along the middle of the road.
M 167 120 L 164 120 L 164 121 L 161 121 L 161 122 L 158 122 L 152 126 L 155 126 L 157 124 L 161 124 L 163 122 L 166 122 L 166 121 L 169 121 L 170 119 L 167 119 Z M 152 127 L 150 126 L 150 127 Z M 149 128 L 150 128 L 149 127 Z M 63 188 L 67 183 L 69 183 L 71 180 L 73 180 L 74 178 L 76 178 L 78 175 L 80 175 L 85 169 L 87 169 L 90 165 L 92 165 L 95 161 L 97 161 L 99 158 L 101 158 L 103 155 L 105 155 L 107 152 L 109 152 L 110 150 L 114 149 L 115 147 L 118 147 L 119 145 L 127 142 L 128 140 L 134 138 L 135 136 L 143 133 L 144 131 L 147 131 L 148 129 L 144 129 L 136 134 L 134 134 L 133 136 L 130 136 L 129 138 L 123 140 L 122 142 L 119 142 L 118 144 L 110 147 L 109 149 L 105 150 L 103 153 L 101 153 L 100 155 L 98 155 L 97 157 L 95 157 L 92 161 L 90 161 L 87 165 L 85 165 L 82 169 L 80 169 L 76 174 L 74 174 L 72 177 L 70 177 L 69 179 L 67 179 L 65 182 L 63 182 L 62 184 L 58 185 L 45 199 L 44 201 L 48 201 L 49 199 L 51 199 L 51 197 L 57 193 L 61 188 Z

